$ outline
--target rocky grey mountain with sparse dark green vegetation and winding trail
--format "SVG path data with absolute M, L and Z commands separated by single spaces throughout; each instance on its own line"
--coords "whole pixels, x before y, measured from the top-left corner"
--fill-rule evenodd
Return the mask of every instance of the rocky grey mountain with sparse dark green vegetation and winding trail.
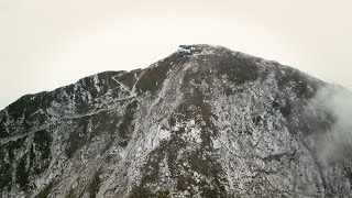
M 194 45 L 0 112 L 1 197 L 351 197 L 349 152 L 321 160 L 326 84 Z M 348 150 L 343 150 L 348 151 Z

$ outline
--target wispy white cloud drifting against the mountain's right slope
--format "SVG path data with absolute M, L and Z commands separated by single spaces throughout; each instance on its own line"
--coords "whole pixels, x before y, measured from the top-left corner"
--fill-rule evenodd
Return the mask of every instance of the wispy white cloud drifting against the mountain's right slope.
M 352 147 L 352 92 L 340 86 L 321 88 L 312 99 L 312 105 L 329 113 L 333 124 L 318 142 L 320 161 L 333 161 L 343 157 Z

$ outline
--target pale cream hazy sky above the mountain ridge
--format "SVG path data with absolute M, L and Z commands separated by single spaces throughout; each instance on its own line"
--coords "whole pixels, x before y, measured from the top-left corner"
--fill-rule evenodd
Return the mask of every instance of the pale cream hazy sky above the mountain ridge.
M 0 0 L 0 109 L 197 43 L 352 88 L 351 9 L 351 0 Z

